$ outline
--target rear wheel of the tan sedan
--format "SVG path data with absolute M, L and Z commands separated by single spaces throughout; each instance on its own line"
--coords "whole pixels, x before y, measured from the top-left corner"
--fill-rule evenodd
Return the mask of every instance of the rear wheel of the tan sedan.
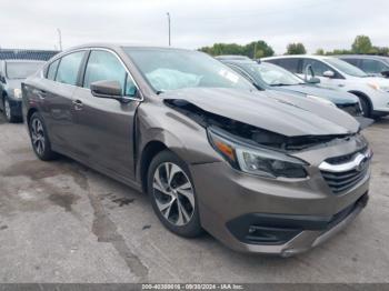
M 51 161 L 58 158 L 58 154 L 51 150 L 43 118 L 38 112 L 34 112 L 29 120 L 29 132 L 32 149 L 40 160 Z

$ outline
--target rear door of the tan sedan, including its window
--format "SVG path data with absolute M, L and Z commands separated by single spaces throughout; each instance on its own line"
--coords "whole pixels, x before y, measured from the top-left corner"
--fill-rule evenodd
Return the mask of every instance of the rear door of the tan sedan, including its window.
M 76 51 L 53 61 L 43 86 L 36 89 L 41 100 L 41 112 L 49 130 L 51 142 L 66 151 L 76 151 L 72 128 L 72 97 L 86 51 Z

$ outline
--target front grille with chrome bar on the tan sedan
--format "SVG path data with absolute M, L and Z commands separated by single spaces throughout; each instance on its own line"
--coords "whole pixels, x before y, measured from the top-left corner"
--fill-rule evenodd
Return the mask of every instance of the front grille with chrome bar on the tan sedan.
M 326 180 L 329 188 L 335 194 L 339 194 L 350 190 L 369 173 L 371 151 L 365 150 L 357 152 L 350 159 L 350 154 L 337 157 L 339 161 L 347 160 L 345 163 L 329 163 L 333 162 L 333 158 L 328 159 L 320 164 L 321 175 Z

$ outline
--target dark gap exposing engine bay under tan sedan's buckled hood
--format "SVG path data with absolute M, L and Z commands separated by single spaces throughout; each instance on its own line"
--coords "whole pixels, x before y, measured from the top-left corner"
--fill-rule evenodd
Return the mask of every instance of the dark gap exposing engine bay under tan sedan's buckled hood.
M 300 151 L 335 140 L 348 140 L 356 133 L 330 136 L 286 137 L 276 132 L 260 129 L 233 119 L 208 112 L 182 99 L 166 99 L 164 103 L 178 112 L 192 119 L 203 128 L 219 128 L 238 140 L 252 146 L 265 146 L 282 151 Z

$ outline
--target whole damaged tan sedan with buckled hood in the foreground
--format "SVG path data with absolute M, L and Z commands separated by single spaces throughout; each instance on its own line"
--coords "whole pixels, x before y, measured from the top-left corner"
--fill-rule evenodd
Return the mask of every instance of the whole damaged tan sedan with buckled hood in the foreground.
M 32 148 L 150 195 L 163 225 L 289 257 L 367 204 L 371 151 L 335 107 L 259 92 L 197 51 L 94 44 L 22 84 Z

